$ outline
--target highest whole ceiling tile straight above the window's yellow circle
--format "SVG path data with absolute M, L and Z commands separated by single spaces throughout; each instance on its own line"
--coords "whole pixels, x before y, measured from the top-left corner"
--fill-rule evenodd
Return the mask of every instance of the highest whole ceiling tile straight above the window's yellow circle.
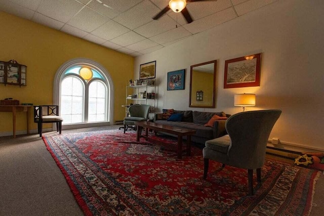
M 88 7 L 84 7 L 71 20 L 69 20 L 67 24 L 81 30 L 91 32 L 102 24 L 106 23 L 108 20 L 108 17 L 98 14 Z

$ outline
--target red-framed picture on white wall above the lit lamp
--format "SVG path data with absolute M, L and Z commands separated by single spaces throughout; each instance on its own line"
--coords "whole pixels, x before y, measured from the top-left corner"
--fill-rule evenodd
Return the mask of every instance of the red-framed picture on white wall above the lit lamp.
M 224 89 L 260 86 L 261 53 L 225 61 Z

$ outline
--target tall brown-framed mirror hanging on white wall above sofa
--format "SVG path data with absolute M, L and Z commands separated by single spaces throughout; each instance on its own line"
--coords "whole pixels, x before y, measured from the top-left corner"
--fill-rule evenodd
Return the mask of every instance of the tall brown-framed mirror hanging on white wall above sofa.
M 215 108 L 216 62 L 190 66 L 189 107 Z

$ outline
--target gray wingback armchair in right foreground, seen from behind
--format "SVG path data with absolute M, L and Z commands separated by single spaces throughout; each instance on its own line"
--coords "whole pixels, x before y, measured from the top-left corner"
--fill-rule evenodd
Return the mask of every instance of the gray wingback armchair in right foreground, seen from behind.
M 248 169 L 249 194 L 253 195 L 253 169 L 261 182 L 261 167 L 265 161 L 266 144 L 281 110 L 240 112 L 226 121 L 228 135 L 206 141 L 203 149 L 204 179 L 207 179 L 209 160 Z

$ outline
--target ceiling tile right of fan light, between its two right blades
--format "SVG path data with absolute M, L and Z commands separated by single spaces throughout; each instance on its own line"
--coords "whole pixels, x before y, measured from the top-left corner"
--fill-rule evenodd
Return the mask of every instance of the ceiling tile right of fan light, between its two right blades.
M 201 19 L 229 7 L 232 7 L 230 0 L 192 2 L 186 6 L 193 20 Z

